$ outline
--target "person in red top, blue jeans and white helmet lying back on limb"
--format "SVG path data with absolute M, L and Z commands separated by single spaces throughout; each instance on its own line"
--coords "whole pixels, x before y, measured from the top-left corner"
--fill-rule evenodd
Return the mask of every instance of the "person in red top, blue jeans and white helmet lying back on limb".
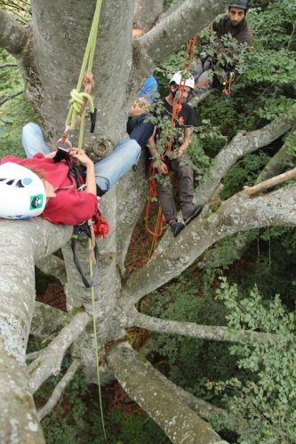
M 70 148 L 68 151 L 70 163 L 78 161 L 84 166 L 85 178 L 80 177 L 84 186 L 77 189 L 76 179 L 70 174 L 69 164 L 65 159 L 55 162 L 56 152 L 51 152 L 46 146 L 42 131 L 36 123 L 28 123 L 23 127 L 22 145 L 27 159 L 6 156 L 0 161 L 0 218 L 30 218 L 40 215 L 53 224 L 71 226 L 92 218 L 98 207 L 97 195 L 101 196 L 115 186 L 119 178 L 138 162 L 141 151 L 140 145 L 135 140 L 123 139 L 117 143 L 110 155 L 94 164 L 84 151 L 78 154 L 76 148 Z M 7 165 L 5 167 L 6 163 L 10 163 L 9 170 Z M 13 170 L 13 164 L 23 167 L 23 172 Z M 10 175 L 7 175 L 7 171 Z M 41 178 L 44 187 L 44 192 L 41 193 L 44 205 L 40 206 L 42 208 L 40 212 L 32 211 L 31 205 L 29 208 L 27 206 L 27 211 L 24 212 L 20 201 L 21 196 L 27 195 L 23 189 L 26 188 L 26 178 L 30 184 L 32 183 L 30 179 L 34 178 L 34 185 L 39 183 L 38 177 Z M 32 192 L 31 187 L 29 192 Z M 11 207 L 7 207 L 11 195 L 20 196 L 13 200 L 14 217 Z

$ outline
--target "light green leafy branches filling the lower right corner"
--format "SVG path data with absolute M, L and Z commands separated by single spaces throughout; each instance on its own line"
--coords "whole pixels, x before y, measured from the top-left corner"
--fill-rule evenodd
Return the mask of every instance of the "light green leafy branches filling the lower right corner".
M 236 286 L 223 279 L 217 297 L 228 308 L 229 335 L 237 329 L 251 329 L 275 335 L 258 342 L 255 337 L 244 344 L 230 345 L 238 367 L 251 377 L 237 377 L 210 384 L 216 392 L 233 390 L 228 409 L 241 424 L 239 442 L 276 443 L 296 440 L 296 349 L 295 316 L 287 313 L 278 296 L 264 302 L 256 287 L 241 298 Z

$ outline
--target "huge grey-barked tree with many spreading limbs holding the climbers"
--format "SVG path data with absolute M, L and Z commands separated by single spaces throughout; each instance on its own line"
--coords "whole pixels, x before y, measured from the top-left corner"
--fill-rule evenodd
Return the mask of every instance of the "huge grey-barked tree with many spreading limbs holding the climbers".
M 52 146 L 63 130 L 69 91 L 76 85 L 95 3 L 95 0 L 32 0 L 32 21 L 28 27 L 0 11 L 0 44 L 18 60 L 26 97 L 33 104 Z M 151 18 L 151 10 L 155 8 L 156 19 L 160 2 L 151 2 L 149 23 L 156 21 L 156 24 L 144 36 L 132 41 L 134 2 L 103 1 L 93 67 L 98 124 L 94 135 L 85 139 L 84 146 L 89 153 L 107 155 L 125 136 L 127 113 L 143 79 L 222 12 L 227 3 L 225 0 L 184 0 L 157 21 Z M 140 4 L 136 4 L 137 13 Z M 101 384 L 116 377 L 172 442 L 220 441 L 211 425 L 202 419 L 211 419 L 212 406 L 183 392 L 148 361 L 139 359 L 126 341 L 126 329 L 136 326 L 189 337 L 228 340 L 224 326 L 164 321 L 139 313 L 136 305 L 140 298 L 178 276 L 220 239 L 261 226 L 296 224 L 296 186 L 285 186 L 252 199 L 238 193 L 221 202 L 215 210 L 207 204 L 237 159 L 265 147 L 291 126 L 291 122 L 278 119 L 258 131 L 239 133 L 214 159 L 207 178 L 196 189 L 197 200 L 205 204 L 203 215 L 176 239 L 166 234 L 148 264 L 130 275 L 125 275 L 124 259 L 147 194 L 141 180 L 143 169 L 129 172 L 116 189 L 101 199 L 101 210 L 110 222 L 111 232 L 107 240 L 99 243 L 100 273 L 94 287 L 99 351 L 93 347 L 90 291 L 84 289 L 69 248 L 71 228 L 53 226 L 38 218 L 1 221 L 1 441 L 43 442 L 39 419 L 54 406 L 76 369 L 82 368 L 90 382 L 97 382 L 97 352 Z M 63 261 L 50 256 L 60 247 Z M 83 247 L 78 254 L 84 257 Z M 44 272 L 56 275 L 64 284 L 68 314 L 35 303 L 35 264 Z M 29 356 L 31 362 L 27 366 L 30 332 L 40 337 L 55 337 L 43 351 Z M 241 331 L 240 335 L 242 341 L 250 337 L 248 331 Z M 268 340 L 264 335 L 259 337 Z M 73 363 L 48 404 L 37 413 L 32 396 L 48 377 L 60 371 L 69 347 Z

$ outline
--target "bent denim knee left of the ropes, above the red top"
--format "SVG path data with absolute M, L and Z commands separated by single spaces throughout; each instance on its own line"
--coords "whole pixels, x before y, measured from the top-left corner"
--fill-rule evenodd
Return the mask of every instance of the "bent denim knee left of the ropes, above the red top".
M 27 123 L 22 128 L 21 143 L 27 157 L 33 157 L 37 153 L 47 155 L 51 152 L 44 142 L 41 128 L 36 123 Z

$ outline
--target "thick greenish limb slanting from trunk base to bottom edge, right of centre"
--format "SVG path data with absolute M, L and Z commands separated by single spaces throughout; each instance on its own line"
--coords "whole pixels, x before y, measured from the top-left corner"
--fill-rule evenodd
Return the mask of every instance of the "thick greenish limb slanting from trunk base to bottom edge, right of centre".
M 172 383 L 148 361 L 142 361 L 127 343 L 108 353 L 108 364 L 124 391 L 143 408 L 173 443 L 226 442 L 201 417 L 176 397 Z M 131 371 L 132 369 L 132 371 Z

